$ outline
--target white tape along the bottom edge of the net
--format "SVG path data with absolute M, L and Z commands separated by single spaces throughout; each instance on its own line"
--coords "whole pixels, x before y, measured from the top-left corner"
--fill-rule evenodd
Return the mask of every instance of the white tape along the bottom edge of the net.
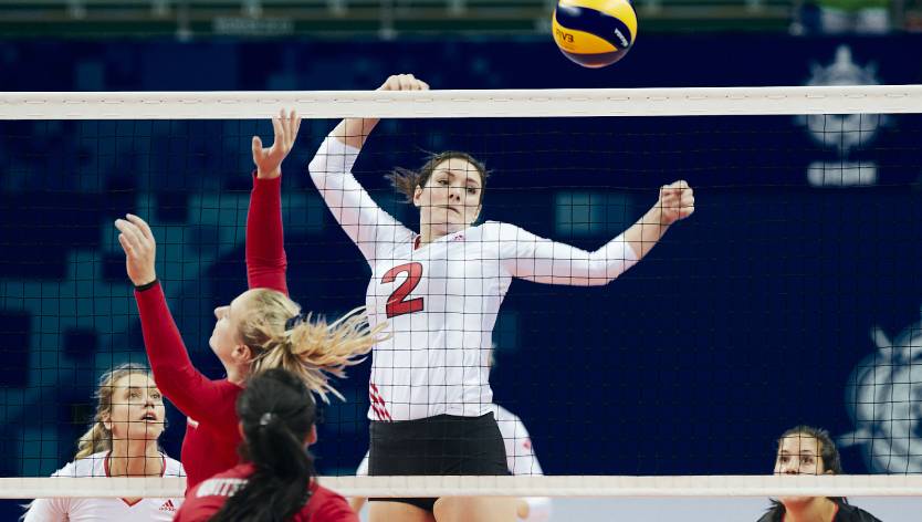
M 908 497 L 922 476 L 322 477 L 346 497 Z M 176 478 L 3 478 L 0 498 L 182 497 Z

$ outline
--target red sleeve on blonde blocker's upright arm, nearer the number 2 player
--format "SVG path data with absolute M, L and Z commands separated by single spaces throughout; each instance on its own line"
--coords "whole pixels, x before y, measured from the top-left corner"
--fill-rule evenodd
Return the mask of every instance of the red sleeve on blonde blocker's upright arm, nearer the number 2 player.
M 268 288 L 287 294 L 281 180 L 253 179 L 247 213 L 247 279 L 251 289 Z

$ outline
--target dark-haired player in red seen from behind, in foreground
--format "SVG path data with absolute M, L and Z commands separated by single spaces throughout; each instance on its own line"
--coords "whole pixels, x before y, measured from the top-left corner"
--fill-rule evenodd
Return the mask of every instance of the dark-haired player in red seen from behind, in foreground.
M 237 400 L 243 462 L 190 490 L 176 521 L 358 522 L 346 499 L 312 479 L 314 413 L 311 392 L 292 373 L 251 378 Z

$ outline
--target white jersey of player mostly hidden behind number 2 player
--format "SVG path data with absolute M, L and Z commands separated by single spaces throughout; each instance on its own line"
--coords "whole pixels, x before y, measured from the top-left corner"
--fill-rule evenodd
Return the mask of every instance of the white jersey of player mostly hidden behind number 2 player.
M 522 419 L 512 411 L 500 405 L 490 405 L 496 424 L 500 426 L 500 434 L 503 436 L 503 443 L 506 447 L 506 466 L 512 474 L 543 476 L 535 449 L 532 446 L 532 438 Z M 357 477 L 368 476 L 368 453 L 362 459 L 355 474 Z M 528 522 L 543 522 L 551 518 L 551 499 L 547 497 L 527 497 Z

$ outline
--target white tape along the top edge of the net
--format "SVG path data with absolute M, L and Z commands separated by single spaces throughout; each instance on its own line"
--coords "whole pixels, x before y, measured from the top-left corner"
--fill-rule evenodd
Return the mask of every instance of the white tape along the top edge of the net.
M 721 116 L 922 113 L 922 85 L 404 92 L 0 93 L 0 119 Z

